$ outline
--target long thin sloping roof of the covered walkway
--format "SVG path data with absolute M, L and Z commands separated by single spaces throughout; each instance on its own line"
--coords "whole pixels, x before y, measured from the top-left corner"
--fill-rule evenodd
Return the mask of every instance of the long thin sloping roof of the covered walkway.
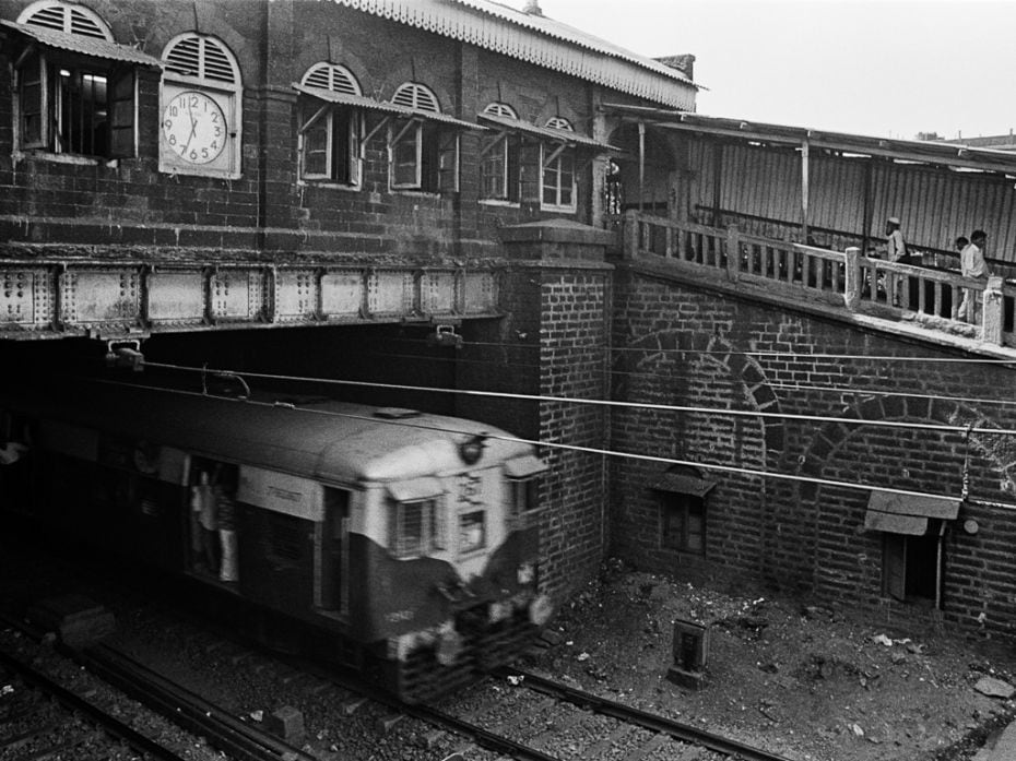
M 603 104 L 610 114 L 628 116 L 651 122 L 665 129 L 710 134 L 769 144 L 801 145 L 807 143 L 815 148 L 829 148 L 843 153 L 867 156 L 884 156 L 899 160 L 941 164 L 957 168 L 980 169 L 1016 174 L 1016 153 L 980 148 L 959 143 L 932 140 L 893 140 L 871 135 L 831 132 L 807 127 L 770 124 L 748 119 L 711 117 L 689 111 L 666 108 Z

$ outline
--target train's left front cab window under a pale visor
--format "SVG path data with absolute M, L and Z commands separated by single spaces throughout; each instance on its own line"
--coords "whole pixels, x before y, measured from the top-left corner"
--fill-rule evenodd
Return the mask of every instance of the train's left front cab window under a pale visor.
M 414 478 L 392 484 L 391 536 L 397 558 L 418 558 L 445 549 L 444 487 L 437 478 Z

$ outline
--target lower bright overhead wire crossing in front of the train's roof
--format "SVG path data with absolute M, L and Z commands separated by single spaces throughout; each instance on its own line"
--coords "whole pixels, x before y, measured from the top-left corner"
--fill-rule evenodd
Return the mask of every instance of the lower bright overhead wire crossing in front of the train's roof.
M 116 381 L 99 381 L 99 382 L 116 383 L 116 384 L 121 384 L 121 385 L 131 385 L 132 388 L 135 388 L 133 387 L 133 384 L 116 382 Z M 187 395 L 187 396 L 199 396 L 203 399 L 208 399 L 210 396 L 209 394 L 199 393 L 197 391 L 186 391 L 181 389 L 165 389 L 165 388 L 156 387 L 156 390 L 166 392 L 166 393 L 175 393 L 175 394 L 181 394 L 181 395 Z M 231 397 L 231 401 L 232 401 L 232 397 Z M 258 402 L 253 400 L 245 400 L 245 402 L 249 404 L 264 406 L 264 407 L 279 408 L 277 405 L 273 403 L 269 403 L 269 402 Z M 290 407 L 283 407 L 283 408 L 290 408 Z M 413 423 L 412 420 L 406 420 L 406 419 L 397 420 L 397 419 L 377 418 L 377 417 L 373 417 L 368 415 L 341 413 L 341 412 L 336 412 L 332 409 L 316 409 L 312 407 L 293 407 L 293 409 L 299 409 L 303 413 L 312 413 L 316 415 L 327 415 L 331 417 L 342 417 L 342 418 L 348 418 L 348 419 L 354 419 L 354 420 L 366 420 L 373 424 L 405 426 L 409 428 L 433 430 L 433 431 L 442 432 L 442 433 L 462 433 L 461 430 L 456 430 L 452 428 L 445 428 L 441 426 Z M 819 486 L 830 486 L 830 487 L 837 487 L 837 488 L 843 488 L 843 489 L 852 489 L 854 491 L 882 491 L 885 494 L 899 495 L 903 497 L 920 497 L 920 498 L 925 498 L 925 499 L 931 498 L 931 499 L 946 499 L 946 500 L 956 500 L 956 501 L 960 499 L 960 497 L 955 497 L 952 495 L 931 494 L 928 491 L 914 491 L 911 489 L 898 489 L 895 487 L 875 486 L 871 484 L 853 484 L 850 481 L 834 480 L 830 478 L 816 478 L 814 476 L 800 476 L 800 475 L 792 474 L 792 473 L 773 473 L 771 471 L 759 471 L 756 468 L 748 468 L 748 467 L 743 467 L 740 465 L 721 465 L 717 463 L 704 463 L 701 461 L 678 460 L 676 457 L 662 457 L 662 456 L 654 455 L 654 454 L 637 454 L 635 452 L 621 452 L 617 450 L 601 449 L 596 447 L 583 447 L 581 444 L 566 444 L 566 443 L 557 442 L 557 441 L 543 441 L 540 439 L 536 439 L 536 440 L 523 439 L 521 437 L 508 436 L 508 435 L 501 435 L 501 433 L 488 433 L 486 435 L 486 438 L 497 439 L 498 441 L 508 441 L 512 443 L 528 444 L 530 447 L 559 449 L 559 450 L 566 450 L 566 451 L 571 451 L 571 452 L 581 452 L 583 454 L 595 454 L 595 455 L 601 455 L 601 456 L 622 457 L 626 460 L 636 460 L 640 462 L 653 462 L 653 463 L 661 463 L 665 465 L 686 465 L 686 466 L 692 466 L 692 467 L 720 471 L 723 473 L 737 473 L 741 475 L 757 476 L 760 478 L 775 478 L 778 480 L 792 480 L 792 481 L 805 483 L 805 484 L 816 484 Z M 1003 510 L 1016 511 L 1016 504 L 1005 504 L 1001 502 L 996 502 L 994 504 Z

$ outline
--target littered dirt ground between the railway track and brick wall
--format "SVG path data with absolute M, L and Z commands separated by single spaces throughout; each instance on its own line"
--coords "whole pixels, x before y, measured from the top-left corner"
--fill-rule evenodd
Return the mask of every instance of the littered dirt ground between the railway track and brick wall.
M 666 679 L 675 619 L 709 626 L 699 690 Z M 985 677 L 1016 685 L 1016 647 L 889 631 L 744 584 L 693 586 L 618 561 L 544 639 L 534 670 L 794 761 L 972 758 L 1016 716 L 1016 700 L 974 688 Z

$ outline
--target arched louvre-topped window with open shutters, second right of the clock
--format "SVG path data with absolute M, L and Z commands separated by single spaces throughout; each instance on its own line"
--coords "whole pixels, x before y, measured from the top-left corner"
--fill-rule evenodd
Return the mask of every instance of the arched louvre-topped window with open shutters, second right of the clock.
M 397 119 L 389 132 L 391 187 L 397 190 L 441 192 L 458 190 L 459 133 L 452 119 L 439 117 L 441 107 L 434 92 L 418 82 L 405 82 L 395 90 L 391 103 L 415 111 Z

